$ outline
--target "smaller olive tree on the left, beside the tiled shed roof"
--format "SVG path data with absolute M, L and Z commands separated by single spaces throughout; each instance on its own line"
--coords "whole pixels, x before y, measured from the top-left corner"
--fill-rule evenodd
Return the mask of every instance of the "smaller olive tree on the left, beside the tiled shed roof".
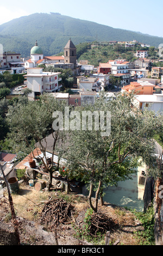
M 64 112 L 66 102 L 54 99 L 51 94 L 40 96 L 39 101 L 21 101 L 9 107 L 7 120 L 10 126 L 8 142 L 14 152 L 23 151 L 29 154 L 34 148 L 39 147 L 43 153 L 40 157 L 45 169 L 49 173 L 48 188 L 52 184 L 52 174 L 55 171 L 53 161 L 48 164 L 46 156 L 46 137 L 52 133 L 53 147 L 52 159 L 57 142 L 64 136 L 62 132 L 53 130 L 53 113 Z M 43 140 L 45 144 L 43 144 Z M 32 155 L 34 158 L 34 155 Z

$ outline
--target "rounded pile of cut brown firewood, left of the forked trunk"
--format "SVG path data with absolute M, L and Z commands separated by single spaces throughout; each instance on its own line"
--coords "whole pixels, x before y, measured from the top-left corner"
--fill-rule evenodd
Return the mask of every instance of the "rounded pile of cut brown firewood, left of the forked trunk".
M 49 199 L 41 212 L 41 223 L 49 227 L 65 224 L 73 218 L 74 207 L 63 198 Z

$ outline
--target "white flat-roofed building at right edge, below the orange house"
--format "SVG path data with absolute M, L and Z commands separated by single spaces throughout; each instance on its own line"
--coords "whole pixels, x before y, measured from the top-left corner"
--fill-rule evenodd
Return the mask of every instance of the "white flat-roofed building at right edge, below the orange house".
M 163 113 L 163 94 L 137 95 L 135 96 L 134 103 L 142 111 L 148 108 L 155 113 L 160 111 Z

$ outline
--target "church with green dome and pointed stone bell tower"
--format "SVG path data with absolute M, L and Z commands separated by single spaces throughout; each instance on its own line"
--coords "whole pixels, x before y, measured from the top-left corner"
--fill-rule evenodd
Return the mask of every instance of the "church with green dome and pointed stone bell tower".
M 54 68 L 77 68 L 77 50 L 71 39 L 64 48 L 64 56 L 43 56 L 43 52 L 37 41 L 30 50 L 30 59 L 24 63 L 24 68 L 37 68 L 40 64 L 52 65 Z

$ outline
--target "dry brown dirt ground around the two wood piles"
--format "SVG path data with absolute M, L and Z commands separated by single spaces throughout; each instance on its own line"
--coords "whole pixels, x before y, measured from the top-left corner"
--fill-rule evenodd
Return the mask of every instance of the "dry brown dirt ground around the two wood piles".
M 59 224 L 55 230 L 49 230 L 46 225 L 40 223 L 43 205 L 50 197 L 64 198 L 75 209 L 72 219 L 67 223 Z M 35 191 L 33 187 L 21 184 L 18 194 L 12 194 L 12 200 L 22 245 L 91 245 L 94 243 L 94 240 L 87 242 L 76 236 L 77 228 L 83 229 L 85 213 L 89 209 L 86 197 L 74 193 L 67 195 L 60 191 Z M 134 214 L 109 204 L 99 206 L 98 210 L 115 223 L 108 230 L 110 244 L 118 241 L 118 245 L 139 245 L 135 231 L 142 230 L 142 225 L 135 219 Z M 14 233 L 14 225 L 11 220 L 8 193 L 5 190 L 0 198 L 0 244 L 10 245 L 12 233 Z M 105 238 L 98 245 L 105 245 Z

